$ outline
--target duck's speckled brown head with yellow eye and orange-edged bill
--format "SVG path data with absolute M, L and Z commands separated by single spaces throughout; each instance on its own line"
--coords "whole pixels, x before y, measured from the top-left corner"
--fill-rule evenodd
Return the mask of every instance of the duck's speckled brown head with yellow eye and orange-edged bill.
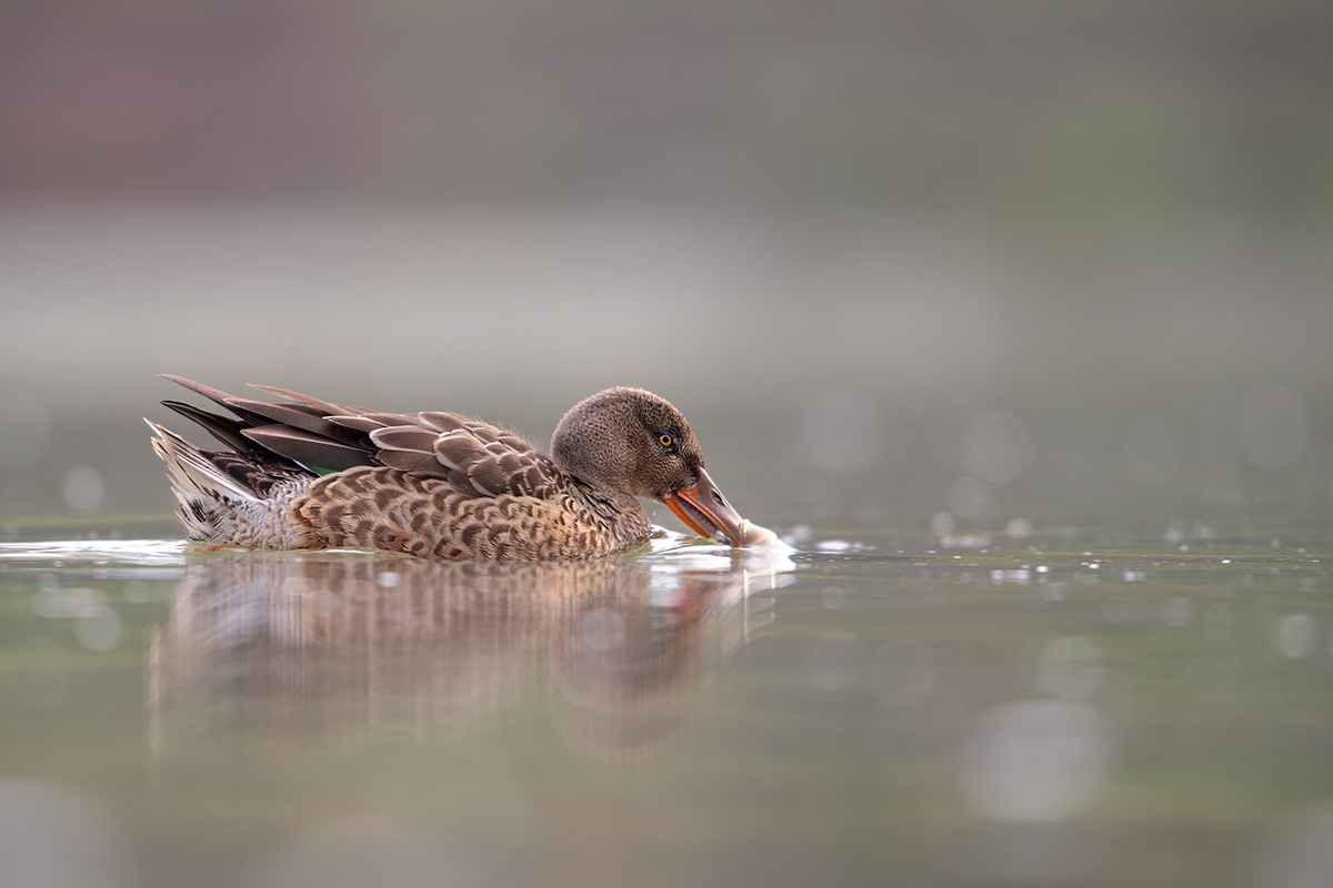
M 744 546 L 745 522 L 704 471 L 680 410 L 643 389 L 607 389 L 580 401 L 551 439 L 551 455 L 583 481 L 665 503 L 702 537 Z

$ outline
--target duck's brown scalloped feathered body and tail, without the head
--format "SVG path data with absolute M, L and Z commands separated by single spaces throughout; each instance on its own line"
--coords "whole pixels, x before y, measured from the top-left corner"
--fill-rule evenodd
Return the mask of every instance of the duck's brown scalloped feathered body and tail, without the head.
M 252 386 L 285 399 L 269 403 L 167 378 L 236 415 L 164 402 L 229 447 L 221 453 L 149 423 L 195 539 L 583 559 L 624 551 L 651 531 L 631 490 L 571 474 L 515 433 L 456 413 L 379 413 Z

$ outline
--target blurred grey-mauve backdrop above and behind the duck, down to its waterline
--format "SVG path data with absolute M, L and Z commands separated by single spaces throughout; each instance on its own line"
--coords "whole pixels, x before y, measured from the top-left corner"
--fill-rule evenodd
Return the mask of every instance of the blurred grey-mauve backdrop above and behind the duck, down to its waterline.
M 774 526 L 1328 542 L 1329 47 L 1314 0 L 12 0 L 0 535 L 164 518 L 176 373 L 543 445 L 645 386 Z

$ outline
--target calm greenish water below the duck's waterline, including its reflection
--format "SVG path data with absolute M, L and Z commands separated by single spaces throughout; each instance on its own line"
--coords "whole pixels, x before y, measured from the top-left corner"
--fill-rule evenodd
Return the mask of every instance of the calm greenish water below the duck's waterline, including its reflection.
M 1326 547 L 794 539 L 0 546 L 0 883 L 1322 884 Z

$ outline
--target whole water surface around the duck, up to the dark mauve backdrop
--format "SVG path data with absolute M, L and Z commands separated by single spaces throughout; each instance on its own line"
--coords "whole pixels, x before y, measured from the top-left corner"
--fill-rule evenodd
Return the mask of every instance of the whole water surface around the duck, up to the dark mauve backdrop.
M 1317 238 L 240 206 L 0 228 L 0 885 L 1333 871 Z M 376 333 L 375 294 L 413 322 Z M 161 371 L 539 445 L 643 385 L 797 553 L 187 549 L 140 422 L 181 426 Z

